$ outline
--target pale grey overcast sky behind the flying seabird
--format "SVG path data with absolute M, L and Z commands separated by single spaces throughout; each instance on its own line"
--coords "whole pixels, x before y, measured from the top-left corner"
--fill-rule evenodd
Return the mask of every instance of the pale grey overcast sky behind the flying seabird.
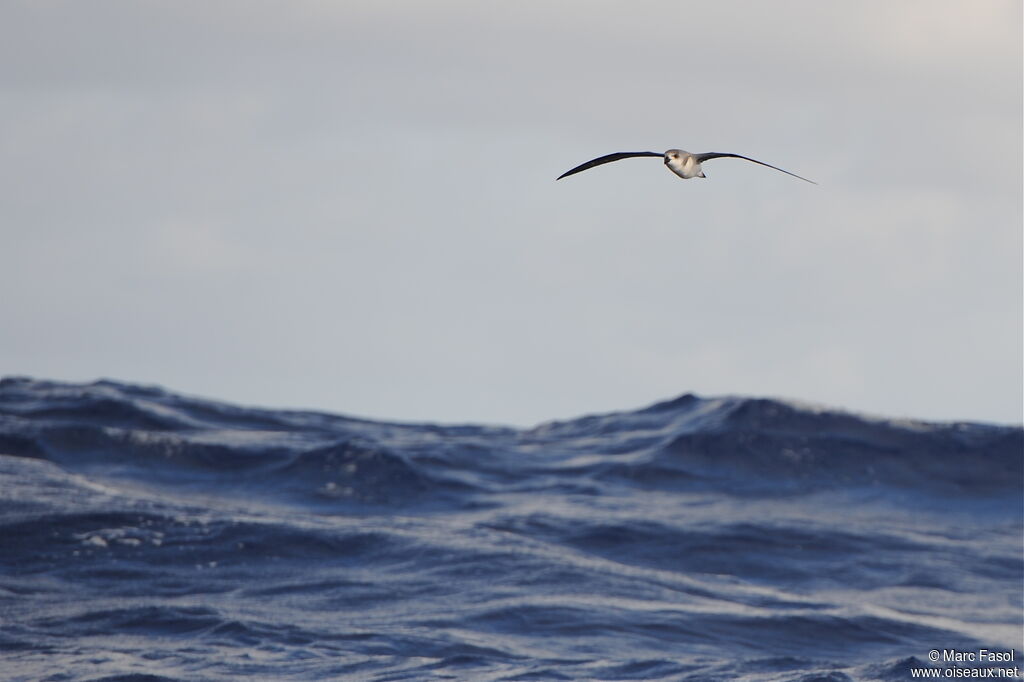
M 1019 422 L 1019 0 L 0 5 L 0 374 Z M 620 151 L 734 152 L 681 180 Z

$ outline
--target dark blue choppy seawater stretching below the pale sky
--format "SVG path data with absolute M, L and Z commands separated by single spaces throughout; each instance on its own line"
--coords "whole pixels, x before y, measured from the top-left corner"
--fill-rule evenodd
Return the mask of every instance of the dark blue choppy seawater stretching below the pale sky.
M 1022 460 L 1018 427 L 741 397 L 512 429 L 6 379 L 0 679 L 1020 667 Z

